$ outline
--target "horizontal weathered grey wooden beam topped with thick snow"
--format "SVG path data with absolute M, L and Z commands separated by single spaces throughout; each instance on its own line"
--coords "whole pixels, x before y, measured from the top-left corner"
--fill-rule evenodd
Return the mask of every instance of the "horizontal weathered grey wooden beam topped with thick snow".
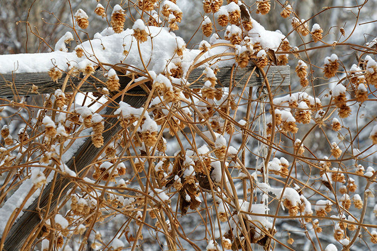
M 216 87 L 221 88 L 229 86 L 231 69 L 231 67 L 224 67 L 220 69 L 220 71 L 217 73 L 219 84 Z M 235 68 L 233 79 L 237 83 L 237 86 L 243 86 L 246 83 L 252 69 L 253 66 Z M 265 71 L 270 85 L 289 85 L 291 82 L 290 66 L 270 66 L 268 70 L 265 68 Z M 203 68 L 197 68 L 190 74 L 188 82 L 192 83 L 195 81 L 195 83 L 191 85 L 191 88 L 199 88 L 204 84 L 204 76 L 201 76 L 202 73 Z M 47 72 L 0 74 L 0 95 L 31 95 L 33 94 L 33 84 L 38 87 L 37 91 L 39 93 L 53 93 L 56 89 L 62 87 L 65 75 L 66 74 L 64 73 L 57 82 L 53 82 Z M 98 88 L 104 87 L 104 85 L 97 80 L 100 79 L 101 81 L 106 82 L 107 78 L 104 77 L 104 72 L 102 70 L 98 70 L 93 73 L 93 76 L 95 78 L 89 77 L 80 87 L 80 91 L 95 92 L 98 91 Z M 82 75 L 78 77 L 69 77 L 65 90 L 67 92 L 71 92 L 72 88 L 77 86 L 82 77 Z M 123 83 L 123 86 L 125 86 L 125 84 L 131 80 L 126 76 L 119 76 L 119 78 L 121 84 Z M 262 81 L 262 75 L 256 69 L 247 85 L 257 86 L 260 85 Z

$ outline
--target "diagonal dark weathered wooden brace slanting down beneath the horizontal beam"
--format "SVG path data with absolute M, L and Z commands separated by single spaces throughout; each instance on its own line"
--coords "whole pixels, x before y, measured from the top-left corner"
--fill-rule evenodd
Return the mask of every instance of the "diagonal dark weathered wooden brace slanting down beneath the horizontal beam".
M 120 100 L 117 101 L 119 102 Z M 146 96 L 125 96 L 124 101 L 133 105 L 134 107 L 140 107 L 146 101 Z M 110 109 L 106 112 L 106 114 L 110 115 L 113 112 L 114 110 Z M 118 118 L 114 116 L 106 119 L 105 131 L 103 133 L 105 145 L 121 129 L 121 126 L 119 123 L 117 123 L 117 121 Z M 116 126 L 114 126 L 114 124 L 116 124 Z M 101 150 L 102 148 L 96 148 L 95 146 L 93 146 L 93 144 L 91 144 L 91 139 L 89 137 L 85 141 L 85 143 L 79 148 L 79 150 L 75 153 L 74 157 L 66 163 L 66 165 L 71 170 L 77 170 L 77 173 L 80 173 L 80 171 L 83 168 L 85 168 L 88 164 L 90 164 L 93 161 L 93 159 L 100 153 Z M 50 192 L 52 192 L 53 196 L 50 209 L 53 209 L 57 203 L 60 192 L 62 191 L 61 194 L 65 195 L 68 189 L 70 189 L 73 186 L 73 183 L 69 182 L 69 178 L 58 175 L 55 183 L 55 189 L 53 191 L 50 191 L 51 183 L 49 183 L 43 190 L 39 202 L 39 207 L 41 209 L 46 208 L 49 194 Z M 36 212 L 37 206 L 38 199 L 36 199 L 26 210 L 24 210 L 24 214 L 12 226 L 5 240 L 4 250 L 20 250 L 27 236 L 31 233 L 33 228 L 41 222 L 38 212 Z

